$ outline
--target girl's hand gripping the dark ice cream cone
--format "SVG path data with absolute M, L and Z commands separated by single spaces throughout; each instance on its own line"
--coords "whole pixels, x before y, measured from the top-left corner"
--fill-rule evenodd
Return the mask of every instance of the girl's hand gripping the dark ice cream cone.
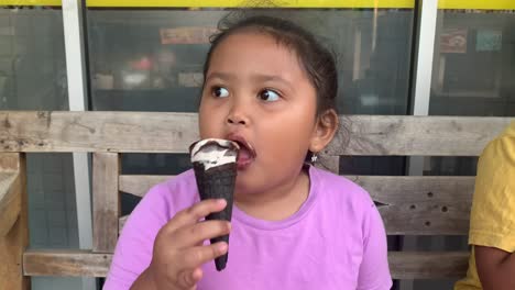
M 205 200 L 178 212 L 157 233 L 152 261 L 131 289 L 140 289 L 143 280 L 144 289 L 196 289 L 202 278 L 200 266 L 228 250 L 224 242 L 204 246 L 204 241 L 227 235 L 231 230 L 227 221 L 199 220 L 226 205 L 226 200 Z

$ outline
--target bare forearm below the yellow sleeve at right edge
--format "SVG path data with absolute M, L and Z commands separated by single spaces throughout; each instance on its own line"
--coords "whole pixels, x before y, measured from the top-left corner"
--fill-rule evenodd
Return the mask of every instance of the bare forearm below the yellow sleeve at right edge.
M 515 289 L 515 253 L 474 246 L 475 267 L 484 290 Z

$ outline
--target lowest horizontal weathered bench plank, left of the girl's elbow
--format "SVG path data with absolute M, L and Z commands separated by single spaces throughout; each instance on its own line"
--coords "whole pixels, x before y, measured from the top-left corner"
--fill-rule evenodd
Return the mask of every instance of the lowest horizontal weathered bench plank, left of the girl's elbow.
M 26 276 L 106 277 L 112 254 L 91 250 L 28 250 L 23 254 Z

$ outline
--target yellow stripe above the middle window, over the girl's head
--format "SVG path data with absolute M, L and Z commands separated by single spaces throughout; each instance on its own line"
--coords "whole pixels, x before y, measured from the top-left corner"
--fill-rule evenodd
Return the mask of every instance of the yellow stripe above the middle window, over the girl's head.
M 177 8 L 239 8 L 242 0 L 86 0 L 88 7 L 177 7 Z M 251 7 L 281 8 L 414 8 L 415 0 L 278 0 L 276 4 L 252 4 Z

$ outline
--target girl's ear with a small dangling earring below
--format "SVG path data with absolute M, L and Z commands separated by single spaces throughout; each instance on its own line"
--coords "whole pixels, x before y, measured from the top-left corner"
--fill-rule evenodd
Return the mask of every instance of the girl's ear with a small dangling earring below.
M 338 129 L 338 114 L 329 109 L 317 118 L 317 124 L 313 132 L 309 150 L 313 153 L 321 152 L 331 142 Z

